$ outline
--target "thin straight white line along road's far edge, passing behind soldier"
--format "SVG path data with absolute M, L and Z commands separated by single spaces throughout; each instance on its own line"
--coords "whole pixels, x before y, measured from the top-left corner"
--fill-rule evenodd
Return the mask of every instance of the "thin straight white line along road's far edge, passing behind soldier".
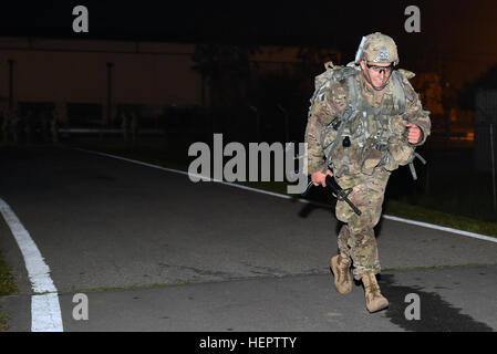
M 106 154 L 106 153 L 86 150 L 86 149 L 82 149 L 82 148 L 73 148 L 73 149 L 76 149 L 76 150 L 80 150 L 80 152 L 90 153 L 90 154 L 96 154 L 96 155 L 101 155 L 101 156 L 107 156 L 107 157 L 125 160 L 125 162 L 137 164 L 137 165 L 143 165 L 143 166 L 147 166 L 147 167 L 152 167 L 152 168 L 156 168 L 156 169 L 166 170 L 166 171 L 169 171 L 169 173 L 175 173 L 175 174 L 180 174 L 180 175 L 188 176 L 187 171 L 179 170 L 179 169 L 166 168 L 166 167 L 152 165 L 152 164 L 147 164 L 147 163 L 143 163 L 143 162 L 138 162 L 138 160 L 134 160 L 134 159 L 131 159 L 131 158 L 121 157 L 121 156 L 116 156 L 116 155 L 111 155 L 111 154 Z M 191 176 L 197 177 L 197 178 L 205 178 L 205 177 L 196 175 L 196 174 L 191 174 Z M 315 202 L 315 201 L 311 201 L 311 200 L 307 200 L 307 199 L 302 199 L 302 198 L 292 198 L 290 196 L 282 195 L 282 194 L 279 194 L 279 192 L 267 191 L 267 190 L 262 190 L 262 189 L 247 187 L 247 186 L 244 186 L 244 185 L 238 185 L 238 184 L 234 184 L 234 183 L 229 183 L 229 181 L 225 181 L 225 180 L 218 180 L 218 179 L 210 179 L 209 178 L 209 181 L 214 181 L 214 183 L 218 183 L 218 184 L 221 184 L 221 185 L 227 185 L 227 186 L 231 186 L 231 187 L 236 187 L 236 188 L 240 188 L 240 189 L 251 190 L 251 191 L 256 191 L 256 192 L 259 192 L 259 194 L 273 196 L 273 197 L 278 197 L 278 198 L 296 199 L 297 201 L 300 201 L 300 202 L 312 204 L 312 205 L 317 205 L 317 206 L 324 207 L 324 208 L 329 208 L 330 207 L 330 206 L 324 205 L 322 202 Z M 496 242 L 497 243 L 497 238 L 490 237 L 490 236 L 485 236 L 485 235 L 469 232 L 469 231 L 463 231 L 463 230 L 447 228 L 447 227 L 443 227 L 443 226 L 438 226 L 438 225 L 434 225 L 434 223 L 428 223 L 428 222 L 422 222 L 422 221 L 415 221 L 415 220 L 411 220 L 411 219 L 398 218 L 398 217 L 394 217 L 394 216 L 390 216 L 390 215 L 383 215 L 382 217 L 387 219 L 387 220 L 416 225 L 416 226 L 425 227 L 425 228 L 428 228 L 428 229 L 435 229 L 435 230 L 452 232 L 452 233 L 456 233 L 456 235 L 467 236 L 467 237 L 472 237 L 472 238 L 475 238 L 475 239 L 480 239 L 480 240 L 485 240 L 485 241 L 490 241 L 490 242 Z

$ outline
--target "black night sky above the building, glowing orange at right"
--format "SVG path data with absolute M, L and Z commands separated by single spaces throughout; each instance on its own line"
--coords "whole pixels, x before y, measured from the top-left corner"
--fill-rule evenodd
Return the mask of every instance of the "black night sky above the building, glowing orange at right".
M 90 32 L 73 33 L 72 9 L 84 4 Z M 421 10 L 421 33 L 407 33 L 404 9 Z M 352 60 L 362 35 L 395 39 L 401 66 L 474 73 L 497 63 L 497 2 L 474 1 L 12 1 L 2 3 L 0 35 L 152 40 L 189 43 L 331 46 Z

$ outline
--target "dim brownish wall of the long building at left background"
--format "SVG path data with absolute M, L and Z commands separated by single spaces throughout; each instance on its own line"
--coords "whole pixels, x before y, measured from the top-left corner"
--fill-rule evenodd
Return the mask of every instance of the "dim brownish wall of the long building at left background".
M 200 104 L 200 75 L 191 70 L 194 45 L 169 43 L 0 39 L 0 101 L 107 102 L 107 62 L 113 104 Z

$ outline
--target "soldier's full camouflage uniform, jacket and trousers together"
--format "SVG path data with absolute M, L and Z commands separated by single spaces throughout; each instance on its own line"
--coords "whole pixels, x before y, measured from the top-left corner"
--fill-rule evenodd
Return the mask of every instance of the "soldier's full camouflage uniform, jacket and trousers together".
M 397 84 L 392 79 L 394 73 Z M 403 70 L 392 72 L 381 93 L 366 85 L 362 71 L 356 70 L 351 76 L 353 79 L 349 81 L 331 82 L 313 97 L 306 142 L 309 174 L 324 173 L 330 168 L 342 188 L 353 188 L 349 198 L 362 215 L 358 216 L 344 201 L 336 202 L 336 218 L 345 222 L 339 232 L 338 244 L 341 257 L 352 259 L 354 278 L 361 280 L 365 272 L 380 272 L 373 228 L 381 217 L 389 177 L 392 170 L 412 160 L 414 145 L 405 137 L 405 123 L 412 122 L 421 128 L 423 137 L 417 146 L 424 144 L 429 135 L 431 122 L 429 112 L 423 110 L 418 95 L 408 83 L 413 73 Z M 398 87 L 395 85 L 398 83 L 402 83 L 406 97 L 403 114 L 396 110 L 395 90 Z M 351 84 L 364 111 L 351 118 L 339 136 L 336 124 L 350 106 Z M 382 108 L 387 114 L 377 114 Z M 349 144 L 342 144 L 344 135 Z M 336 142 L 335 148 L 327 150 L 333 142 Z

